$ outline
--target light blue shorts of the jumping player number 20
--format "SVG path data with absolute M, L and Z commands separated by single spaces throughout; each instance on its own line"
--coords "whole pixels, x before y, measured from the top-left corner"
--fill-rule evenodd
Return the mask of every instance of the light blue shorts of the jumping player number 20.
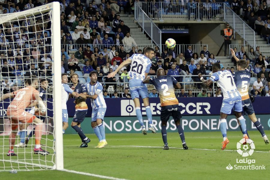
M 130 79 L 129 80 L 129 91 L 131 98 L 149 98 L 149 93 L 146 84 L 143 84 L 143 81 L 140 79 Z

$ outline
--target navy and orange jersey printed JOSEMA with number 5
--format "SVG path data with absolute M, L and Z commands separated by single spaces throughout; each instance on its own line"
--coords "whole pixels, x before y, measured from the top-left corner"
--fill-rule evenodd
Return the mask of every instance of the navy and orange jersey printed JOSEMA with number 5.
M 239 70 L 235 72 L 232 76 L 233 76 L 236 88 L 240 92 L 242 101 L 249 99 L 248 87 L 250 84 L 250 76 L 251 76 L 250 71 L 247 69 Z

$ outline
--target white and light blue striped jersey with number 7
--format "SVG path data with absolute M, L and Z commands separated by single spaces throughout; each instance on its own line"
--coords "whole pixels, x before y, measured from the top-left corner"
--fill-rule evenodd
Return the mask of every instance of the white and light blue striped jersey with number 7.
M 223 99 L 235 98 L 240 96 L 239 91 L 237 91 L 236 85 L 234 83 L 232 73 L 228 70 L 218 71 L 213 73 L 210 79 L 214 82 L 217 81 L 217 84 L 220 86 L 223 92 Z

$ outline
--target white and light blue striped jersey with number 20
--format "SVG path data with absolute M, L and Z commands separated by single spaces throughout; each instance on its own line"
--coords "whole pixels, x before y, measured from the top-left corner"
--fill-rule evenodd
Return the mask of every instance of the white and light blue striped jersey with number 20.
M 149 73 L 151 60 L 143 54 L 133 54 L 130 59 L 131 69 L 129 71 L 130 79 L 140 79 L 143 81 L 145 73 Z

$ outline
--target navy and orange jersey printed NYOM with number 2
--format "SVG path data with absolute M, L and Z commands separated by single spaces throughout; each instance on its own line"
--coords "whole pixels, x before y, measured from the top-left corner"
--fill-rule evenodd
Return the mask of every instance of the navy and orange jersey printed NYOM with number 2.
M 174 94 L 174 85 L 177 80 L 172 76 L 159 76 L 149 79 L 149 83 L 155 85 L 159 93 L 161 106 L 178 104 L 178 100 Z

